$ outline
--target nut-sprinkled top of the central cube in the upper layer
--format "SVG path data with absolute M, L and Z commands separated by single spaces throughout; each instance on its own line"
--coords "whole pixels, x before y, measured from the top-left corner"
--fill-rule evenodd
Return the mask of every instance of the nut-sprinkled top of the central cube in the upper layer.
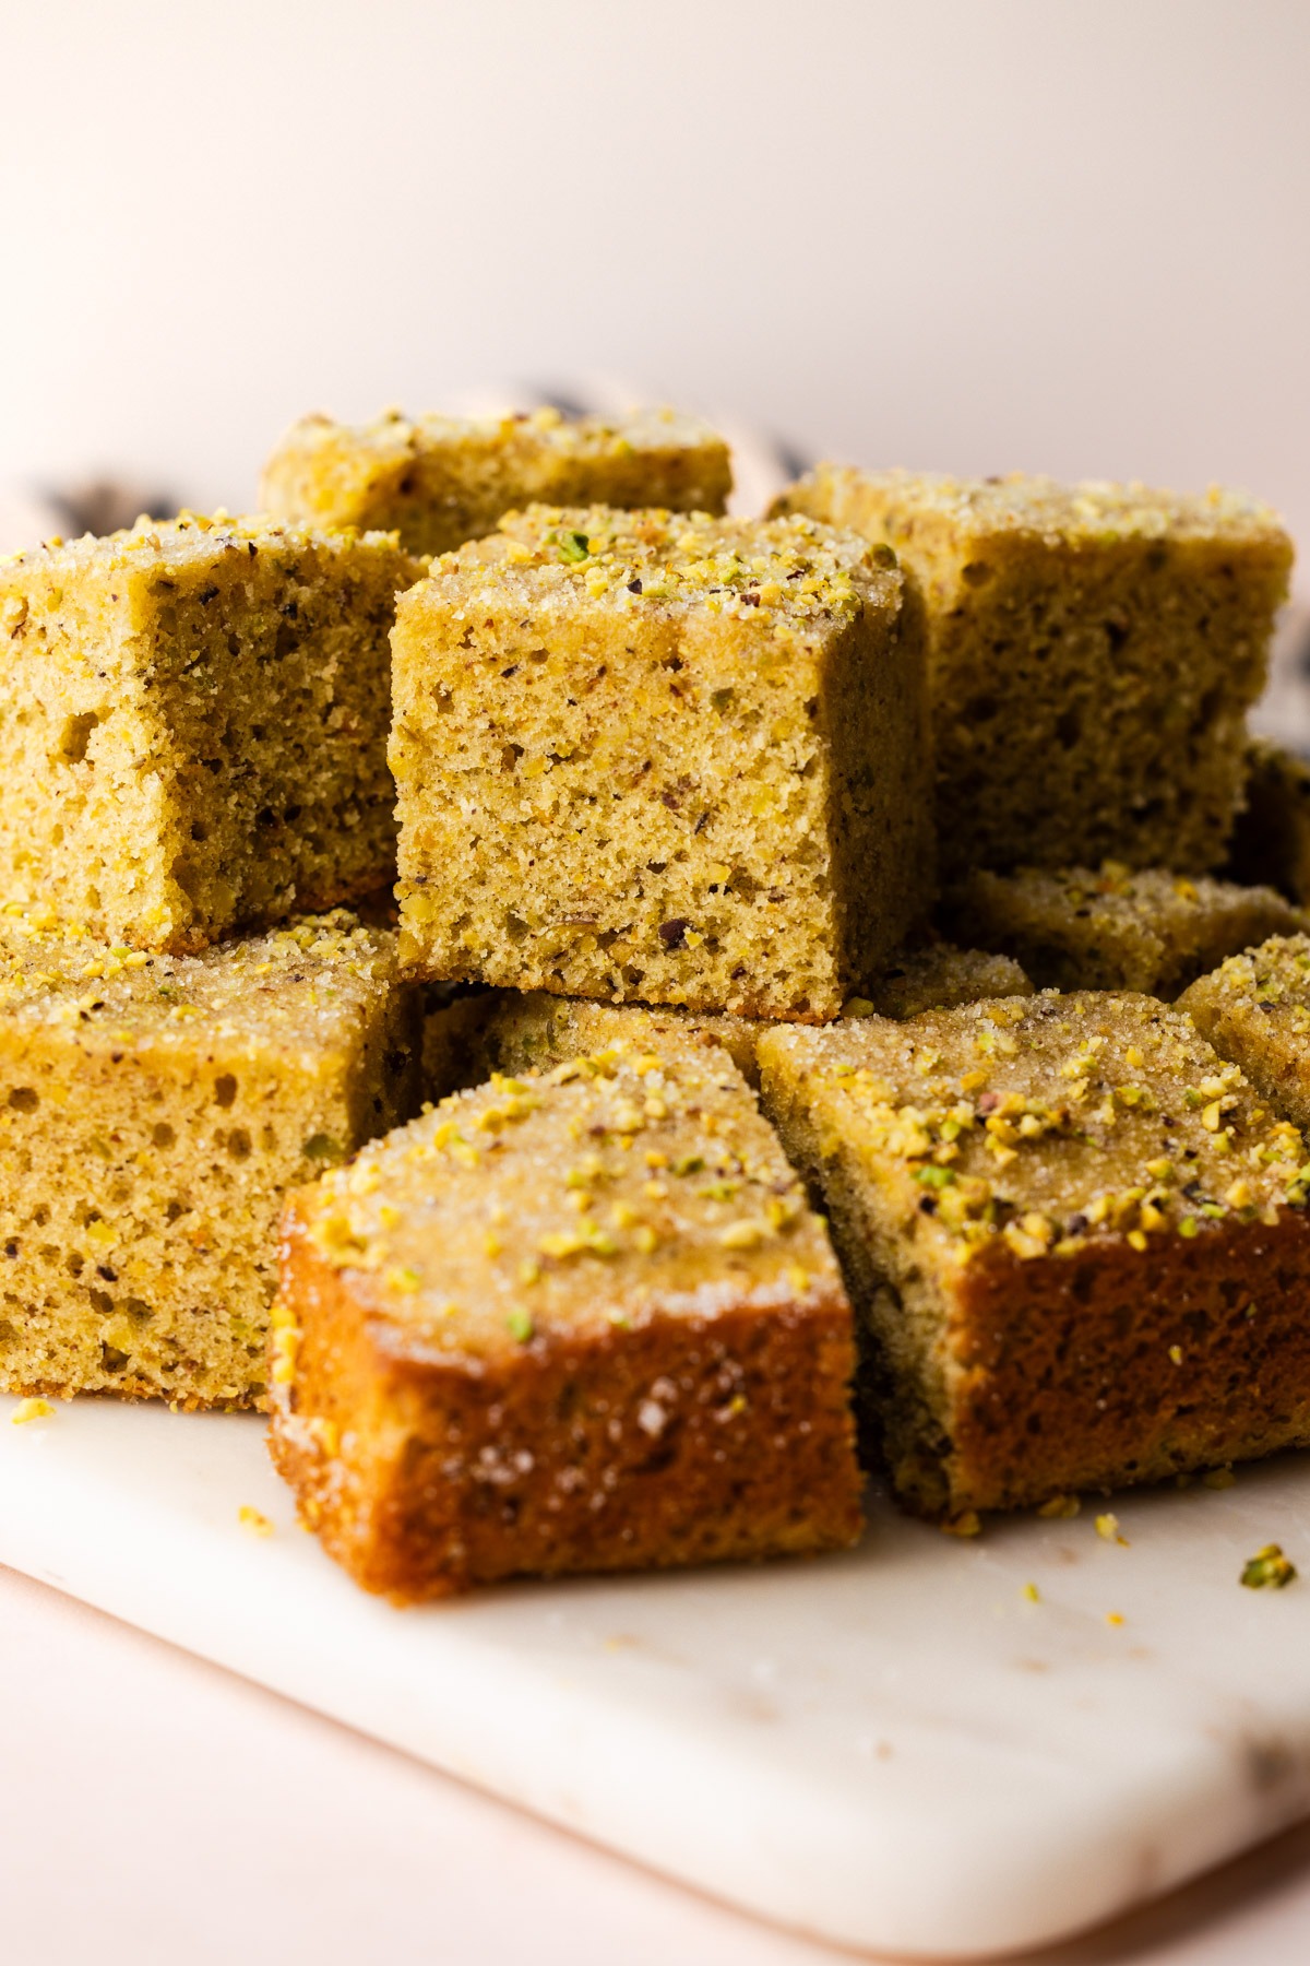
M 900 606 L 890 549 L 813 519 L 709 519 L 611 505 L 528 505 L 501 529 L 432 562 L 412 592 L 477 606 L 605 604 L 619 613 L 731 615 L 774 631 L 825 627 L 860 606 Z

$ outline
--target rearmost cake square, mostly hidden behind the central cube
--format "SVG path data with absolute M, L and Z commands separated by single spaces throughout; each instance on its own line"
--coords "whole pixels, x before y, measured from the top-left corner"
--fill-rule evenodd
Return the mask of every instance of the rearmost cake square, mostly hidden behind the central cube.
M 721 513 L 729 446 L 695 417 L 304 417 L 263 468 L 265 511 L 310 525 L 397 531 L 412 552 L 450 552 L 519 507 L 666 505 Z

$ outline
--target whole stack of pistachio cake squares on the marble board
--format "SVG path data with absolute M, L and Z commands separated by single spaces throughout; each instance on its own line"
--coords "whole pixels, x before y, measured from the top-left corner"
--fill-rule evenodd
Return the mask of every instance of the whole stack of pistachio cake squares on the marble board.
M 1255 501 L 299 425 L 0 562 L 0 1386 L 265 1406 L 367 1589 L 1310 1443 Z

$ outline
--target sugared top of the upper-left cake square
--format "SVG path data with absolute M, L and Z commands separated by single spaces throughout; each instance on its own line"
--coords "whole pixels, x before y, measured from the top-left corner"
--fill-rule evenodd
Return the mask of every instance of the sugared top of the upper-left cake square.
M 6 580 L 33 572 L 185 572 L 189 568 L 210 566 L 224 554 L 275 552 L 279 547 L 302 552 L 314 547 L 318 552 L 350 552 L 365 547 L 369 550 L 399 552 L 395 533 L 357 533 L 350 527 L 299 525 L 293 519 L 269 519 L 263 513 L 230 517 L 226 511 L 196 513 L 183 511 L 177 519 L 137 519 L 122 533 L 96 537 L 84 533 L 81 539 L 47 539 L 39 547 L 12 552 L 0 558 L 0 586 Z

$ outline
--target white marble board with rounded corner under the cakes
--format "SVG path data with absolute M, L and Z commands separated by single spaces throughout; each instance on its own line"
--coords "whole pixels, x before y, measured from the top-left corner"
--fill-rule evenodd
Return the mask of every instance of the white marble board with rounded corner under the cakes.
M 874 1498 L 846 1557 L 397 1612 L 295 1528 L 257 1419 L 14 1410 L 0 1563 L 829 1940 L 1041 1944 L 1310 1813 L 1310 1457 L 1123 1494 L 1127 1545 Z M 1239 1589 L 1267 1541 L 1306 1575 Z

